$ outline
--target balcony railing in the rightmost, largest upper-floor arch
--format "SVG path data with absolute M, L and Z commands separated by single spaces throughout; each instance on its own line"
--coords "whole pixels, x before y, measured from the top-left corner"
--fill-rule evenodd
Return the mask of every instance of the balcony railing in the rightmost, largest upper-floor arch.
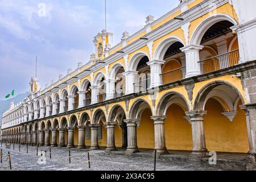
M 233 65 L 238 64 L 239 62 L 239 50 L 231 51 L 223 55 L 218 55 L 215 57 L 210 57 L 209 59 L 201 60 L 200 69 L 201 73 L 210 73 L 218 71 L 220 69 L 232 67 Z

